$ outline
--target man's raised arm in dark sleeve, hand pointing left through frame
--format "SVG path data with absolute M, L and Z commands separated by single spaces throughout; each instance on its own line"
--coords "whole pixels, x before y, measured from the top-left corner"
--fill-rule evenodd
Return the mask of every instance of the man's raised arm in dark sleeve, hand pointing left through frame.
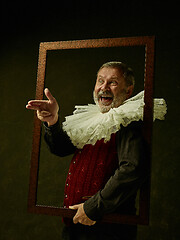
M 44 93 L 48 100 L 31 100 L 26 108 L 37 111 L 37 117 L 44 122 L 45 141 L 50 151 L 61 157 L 72 154 L 76 148 L 60 127 L 58 121 L 59 105 L 48 88 L 45 88 Z

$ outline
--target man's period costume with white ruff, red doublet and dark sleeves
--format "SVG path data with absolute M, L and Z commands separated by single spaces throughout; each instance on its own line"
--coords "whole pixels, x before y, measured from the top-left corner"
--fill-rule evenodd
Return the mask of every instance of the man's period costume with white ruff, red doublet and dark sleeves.
M 61 157 L 75 153 L 66 180 L 66 207 L 85 202 L 86 215 L 95 221 L 106 213 L 135 214 L 136 192 L 149 175 L 144 159 L 147 148 L 142 135 L 143 106 L 141 92 L 107 113 L 101 113 L 96 105 L 76 107 L 63 127 L 59 122 L 45 127 L 45 140 L 52 153 Z M 154 109 L 154 119 L 163 119 L 165 102 L 156 100 Z M 109 239 L 113 239 L 113 233 L 122 236 L 122 225 L 109 226 Z M 86 226 L 73 228 L 74 232 L 83 232 Z M 98 225 L 90 228 L 98 236 Z M 128 238 L 127 230 L 122 239 L 135 239 L 134 226 L 131 230 L 134 235 Z

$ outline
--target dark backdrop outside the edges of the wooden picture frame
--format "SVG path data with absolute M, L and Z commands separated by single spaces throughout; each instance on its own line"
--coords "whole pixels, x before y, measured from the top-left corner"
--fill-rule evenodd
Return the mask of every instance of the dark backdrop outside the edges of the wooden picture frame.
M 25 105 L 39 43 L 143 35 L 156 36 L 154 95 L 168 113 L 154 124 L 150 225 L 138 227 L 138 239 L 180 239 L 178 2 L 4 1 L 0 11 L 0 239 L 61 239 L 60 217 L 27 213 L 33 113 Z

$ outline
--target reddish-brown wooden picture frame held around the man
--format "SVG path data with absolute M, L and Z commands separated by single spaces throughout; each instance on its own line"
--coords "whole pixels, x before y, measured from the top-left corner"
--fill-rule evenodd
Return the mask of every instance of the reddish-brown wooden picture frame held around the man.
M 144 66 L 144 138 L 149 146 L 147 161 L 151 167 L 151 137 L 153 123 L 153 77 L 154 77 L 154 36 L 143 37 L 125 37 L 125 38 L 107 38 L 91 40 L 57 41 L 42 42 L 39 48 L 39 61 L 37 72 L 36 99 L 43 99 L 44 79 L 46 71 L 47 51 L 82 49 L 82 48 L 113 48 L 127 46 L 144 46 L 145 48 L 145 66 Z M 62 207 L 44 206 L 37 204 L 37 187 L 39 172 L 39 155 L 41 142 L 41 121 L 34 115 L 34 131 L 31 154 L 30 182 L 28 195 L 28 212 L 36 214 L 47 214 L 72 218 L 75 215 L 74 210 L 64 209 Z M 123 223 L 123 224 L 142 224 L 149 223 L 149 205 L 150 205 L 150 179 L 144 183 L 140 189 L 139 214 L 138 215 L 120 215 L 108 214 L 103 218 L 103 222 Z

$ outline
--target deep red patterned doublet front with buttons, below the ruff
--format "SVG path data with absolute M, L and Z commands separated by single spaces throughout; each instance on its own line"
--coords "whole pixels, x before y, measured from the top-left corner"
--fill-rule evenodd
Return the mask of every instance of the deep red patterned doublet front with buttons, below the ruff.
M 64 207 L 79 204 L 102 189 L 118 167 L 115 134 L 109 142 L 101 139 L 77 150 L 70 163 L 65 184 Z

